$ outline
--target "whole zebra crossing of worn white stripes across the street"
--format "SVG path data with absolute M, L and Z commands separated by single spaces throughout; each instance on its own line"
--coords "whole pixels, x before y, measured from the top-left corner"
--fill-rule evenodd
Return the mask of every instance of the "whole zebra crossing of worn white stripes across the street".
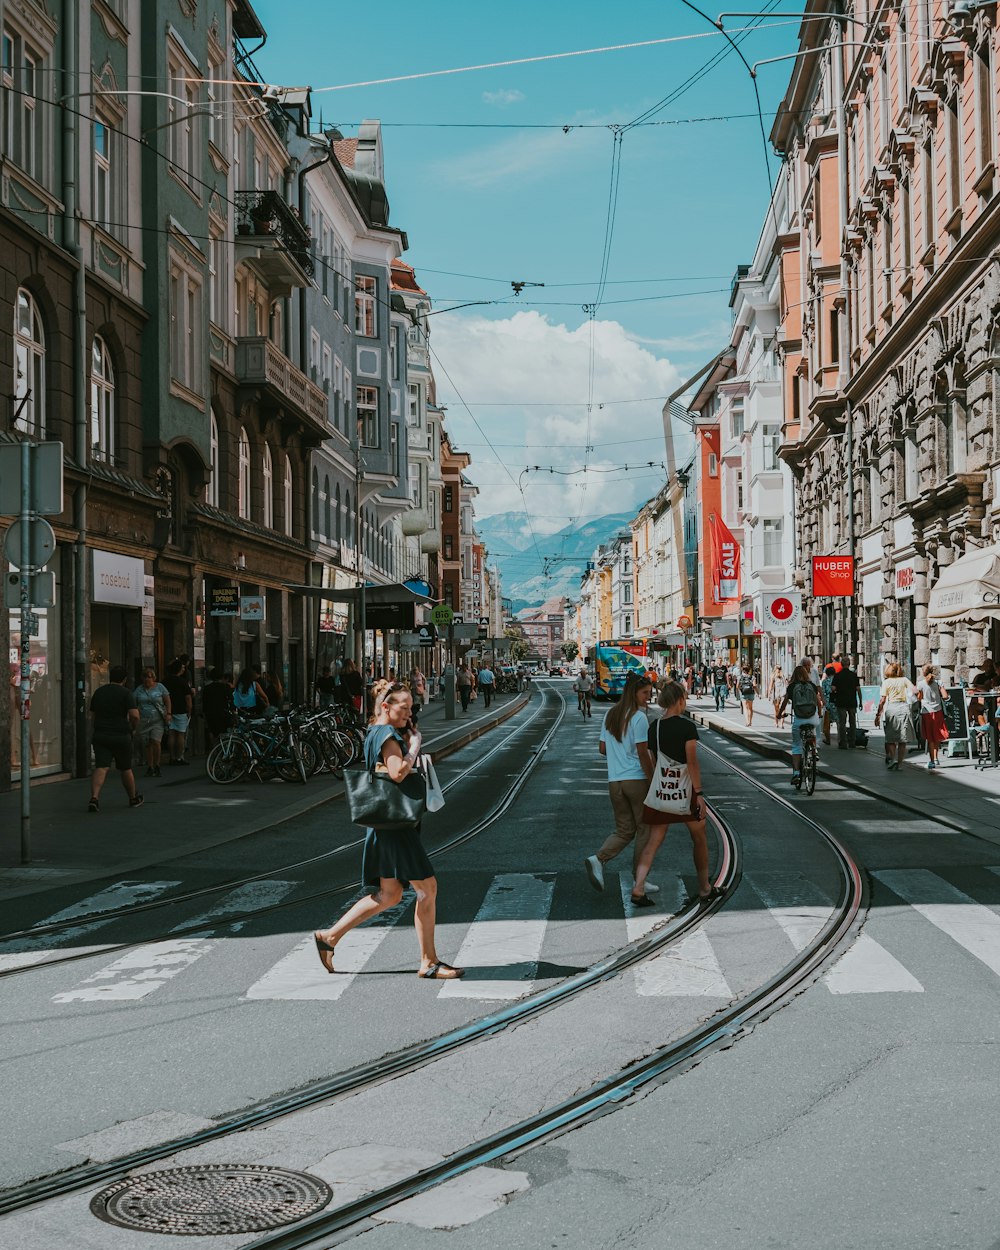
M 962 880 L 968 880 L 969 870 L 964 872 Z M 1000 865 L 975 869 L 974 874 L 980 875 L 982 892 L 995 899 L 995 878 L 1000 876 Z M 898 928 L 894 929 L 901 915 L 929 924 L 952 948 L 1000 976 L 1000 904 L 980 902 L 946 876 L 926 869 L 881 869 L 872 876 L 876 898 L 868 928 L 822 976 L 820 984 L 829 994 L 835 998 L 922 994 L 942 986 L 946 976 L 940 968 L 935 968 L 934 959 L 928 959 L 925 944 L 920 944 L 924 954 L 919 956 L 899 936 Z M 451 931 L 449 950 L 455 950 L 452 961 L 469 971 L 464 980 L 442 981 L 438 986 L 436 998 L 442 1001 L 512 1001 L 551 980 L 552 972 L 550 969 L 546 971 L 544 965 L 546 946 L 551 955 L 552 926 L 554 922 L 565 924 L 565 919 L 559 920 L 559 916 L 565 918 L 568 900 L 571 902 L 569 911 L 574 926 L 591 921 L 610 926 L 610 932 L 616 930 L 620 934 L 616 944 L 622 945 L 645 938 L 661 925 L 682 906 L 688 892 L 680 878 L 661 874 L 658 906 L 638 911 L 629 901 L 631 876 L 619 874 L 619 890 L 612 894 L 615 878 L 609 872 L 610 899 L 601 901 L 601 916 L 591 918 L 586 909 L 594 905 L 592 895 L 582 890 L 580 880 L 570 874 L 501 872 L 491 879 L 484 874 L 482 880 L 486 884 L 472 918 L 460 924 L 448 921 Z M 90 942 L 90 934 L 108 921 L 99 916 L 88 918 L 106 908 L 109 901 L 120 904 L 124 898 L 148 900 L 175 885 L 169 881 L 141 886 L 139 882 L 119 882 L 84 899 L 71 909 L 40 921 L 79 920 L 69 932 L 62 930 L 35 940 L 0 944 L 0 968 L 21 968 L 26 961 L 44 965 L 74 940 L 84 938 Z M 249 882 L 175 924 L 178 936 L 168 935 L 118 958 L 109 956 L 106 964 L 88 975 L 80 975 L 75 964 L 62 965 L 59 974 L 50 974 L 64 975 L 66 980 L 51 995 L 51 1001 L 72 1008 L 79 1004 L 149 1000 L 189 975 L 196 965 L 218 955 L 232 938 L 250 936 L 246 930 L 254 920 L 245 919 L 246 914 L 280 902 L 300 885 L 284 879 Z M 555 906 L 559 898 L 561 910 Z M 625 976 L 639 999 L 705 998 L 729 1001 L 745 989 L 746 971 L 741 972 L 735 966 L 739 961 L 734 949 L 745 944 L 748 935 L 764 952 L 765 964 L 770 960 L 774 971 L 778 971 L 815 939 L 830 914 L 830 900 L 822 899 L 816 886 L 804 878 L 781 872 L 746 875 L 728 908 Z M 244 919 L 234 920 L 235 916 Z M 316 959 L 311 932 L 301 936 L 271 935 L 266 944 L 251 946 L 256 965 L 254 960 L 249 962 L 245 981 L 234 986 L 234 992 L 248 1002 L 344 1000 L 350 1005 L 354 995 L 370 995 L 379 984 L 371 978 L 366 984 L 366 974 L 411 971 L 409 961 L 406 966 L 399 966 L 399 951 L 394 958 L 391 950 L 394 934 L 401 941 L 400 925 L 405 921 L 405 928 L 411 920 L 412 899 L 404 898 L 396 908 L 354 930 L 338 946 L 338 972 L 334 976 L 326 974 Z M 456 932 L 460 934 L 458 944 L 452 940 Z M 408 955 L 411 955 L 409 944 L 412 939 L 406 934 L 405 940 Z M 275 948 L 282 941 L 284 949 L 275 958 Z M 561 942 L 565 956 L 565 935 Z M 99 944 L 69 945 L 69 949 L 100 956 Z M 914 966 L 921 959 L 920 966 Z M 89 966 L 94 968 L 92 959 Z

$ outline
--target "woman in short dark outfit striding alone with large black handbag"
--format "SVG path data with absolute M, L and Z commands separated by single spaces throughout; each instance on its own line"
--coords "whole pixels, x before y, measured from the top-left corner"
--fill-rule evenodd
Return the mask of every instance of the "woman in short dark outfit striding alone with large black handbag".
M 365 764 L 384 770 L 400 782 L 418 768 L 420 731 L 412 724 L 412 695 L 400 682 L 385 682 L 375 695 L 375 715 L 365 736 Z M 416 891 L 414 926 L 420 945 L 420 969 L 424 980 L 452 981 L 465 975 L 464 969 L 445 964 L 438 955 L 434 926 L 438 905 L 438 879 L 434 866 L 420 841 L 420 826 L 399 832 L 369 829 L 361 860 L 361 879 L 368 894 L 359 899 L 330 929 L 318 929 L 314 940 L 320 962 L 334 972 L 334 951 L 345 934 L 371 920 L 379 912 L 395 908 L 402 891 L 411 885 Z

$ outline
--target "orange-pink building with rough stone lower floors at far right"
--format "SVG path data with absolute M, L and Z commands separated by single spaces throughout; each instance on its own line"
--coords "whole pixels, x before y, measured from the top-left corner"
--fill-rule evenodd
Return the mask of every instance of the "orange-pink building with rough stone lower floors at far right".
M 869 680 L 884 659 L 964 674 L 1000 629 L 931 598 L 1000 532 L 994 8 L 855 8 L 842 49 L 828 12 L 805 6 L 771 132 L 802 580 L 858 559 L 854 600 L 808 600 L 806 649 L 856 649 Z

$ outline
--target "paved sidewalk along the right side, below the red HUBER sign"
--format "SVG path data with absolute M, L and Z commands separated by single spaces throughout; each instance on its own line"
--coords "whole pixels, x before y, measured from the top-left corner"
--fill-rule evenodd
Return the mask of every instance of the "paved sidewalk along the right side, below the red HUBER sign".
M 711 695 L 689 700 L 688 711 L 699 724 L 716 729 L 761 755 L 788 762 L 791 772 L 791 730 L 774 728 L 770 702 L 758 700 L 754 704 L 750 729 L 744 725 L 742 710 L 731 702 L 724 712 L 716 712 Z M 791 724 L 791 718 L 788 722 Z M 885 768 L 881 731 L 869 729 L 868 732 L 866 750 L 838 750 L 836 726 L 830 735 L 830 746 L 824 745 L 820 738 L 819 775 L 1000 845 L 1000 769 L 980 770 L 971 760 L 941 758 L 940 766 L 931 771 L 928 756 L 921 751 L 910 754 L 899 771 L 890 772 Z M 792 792 L 790 786 L 789 792 Z

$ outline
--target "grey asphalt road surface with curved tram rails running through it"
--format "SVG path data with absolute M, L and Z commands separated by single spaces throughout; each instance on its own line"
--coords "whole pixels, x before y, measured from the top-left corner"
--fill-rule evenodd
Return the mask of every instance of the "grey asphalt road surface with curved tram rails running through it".
M 551 691 L 566 689 L 549 684 L 546 725 Z M 234 932 L 219 925 L 215 900 L 204 938 L 0 982 L 0 1182 L 114 1158 L 392 1052 L 661 922 L 694 884 L 684 832 L 656 865 L 652 912 L 624 901 L 628 856 L 602 895 L 581 869 L 610 828 L 600 715 L 581 722 L 570 708 L 510 811 L 440 856 L 439 945 L 469 968 L 458 989 L 412 975 L 406 904 L 359 931 L 352 954 L 342 944 L 345 974 L 318 974 L 306 935 L 326 915 L 315 901 Z M 451 829 L 495 801 L 540 730 L 462 779 L 446 809 Z M 469 751 L 484 755 L 504 732 Z M 786 789 L 780 765 L 702 739 Z M 458 774 L 475 758 L 460 752 L 448 768 Z M 588 1088 L 750 992 L 821 926 L 836 868 L 792 812 L 722 761 L 706 755 L 704 775 L 739 830 L 744 875 L 680 948 L 411 1076 L 174 1161 L 296 1166 L 325 1176 L 340 1202 Z M 870 911 L 846 954 L 749 1038 L 611 1115 L 386 1212 L 356 1230 L 365 1246 L 998 1245 L 996 848 L 834 786 L 794 802 L 871 874 Z M 175 922 L 191 919 L 188 910 Z M 88 1199 L 1 1221 L 0 1244 L 169 1250 L 169 1238 L 109 1238 Z M 229 1250 L 251 1239 L 204 1240 Z

